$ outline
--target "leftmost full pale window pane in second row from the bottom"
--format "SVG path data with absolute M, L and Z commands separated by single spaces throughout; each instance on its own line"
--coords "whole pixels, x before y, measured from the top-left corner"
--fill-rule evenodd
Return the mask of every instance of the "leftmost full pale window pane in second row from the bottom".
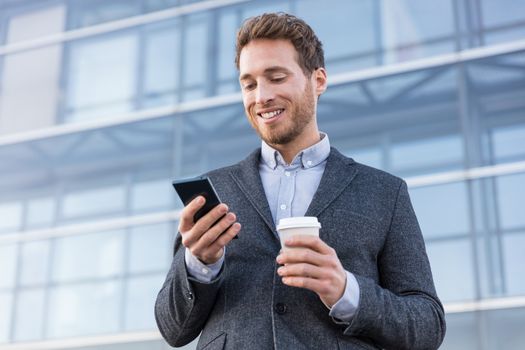
M 20 247 L 20 284 L 34 286 L 48 279 L 50 241 L 30 241 Z

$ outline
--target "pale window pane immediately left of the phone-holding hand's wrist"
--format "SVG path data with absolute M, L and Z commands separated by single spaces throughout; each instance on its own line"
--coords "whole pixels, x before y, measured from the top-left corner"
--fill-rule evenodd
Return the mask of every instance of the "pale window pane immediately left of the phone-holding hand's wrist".
M 173 224 L 133 227 L 129 236 L 129 273 L 167 271 L 173 256 Z

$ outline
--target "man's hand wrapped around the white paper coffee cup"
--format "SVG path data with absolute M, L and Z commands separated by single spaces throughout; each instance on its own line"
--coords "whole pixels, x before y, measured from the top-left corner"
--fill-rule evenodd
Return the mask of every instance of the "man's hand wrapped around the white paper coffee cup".
M 346 272 L 335 250 L 319 237 L 297 235 L 286 242 L 294 249 L 281 251 L 277 256 L 277 273 L 283 283 L 309 289 L 331 308 L 343 296 Z

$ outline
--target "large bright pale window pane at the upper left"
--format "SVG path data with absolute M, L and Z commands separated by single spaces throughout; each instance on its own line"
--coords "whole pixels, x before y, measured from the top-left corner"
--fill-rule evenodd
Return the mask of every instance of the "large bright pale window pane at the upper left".
M 134 108 L 137 37 L 94 37 L 70 47 L 66 121 L 123 114 Z

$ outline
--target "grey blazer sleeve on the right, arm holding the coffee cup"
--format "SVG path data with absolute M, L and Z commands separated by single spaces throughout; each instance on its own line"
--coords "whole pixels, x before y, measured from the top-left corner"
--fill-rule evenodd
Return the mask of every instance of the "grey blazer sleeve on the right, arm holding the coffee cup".
M 356 275 L 359 306 L 344 333 L 385 349 L 437 349 L 445 336 L 445 316 L 404 181 L 378 269 L 379 284 Z

